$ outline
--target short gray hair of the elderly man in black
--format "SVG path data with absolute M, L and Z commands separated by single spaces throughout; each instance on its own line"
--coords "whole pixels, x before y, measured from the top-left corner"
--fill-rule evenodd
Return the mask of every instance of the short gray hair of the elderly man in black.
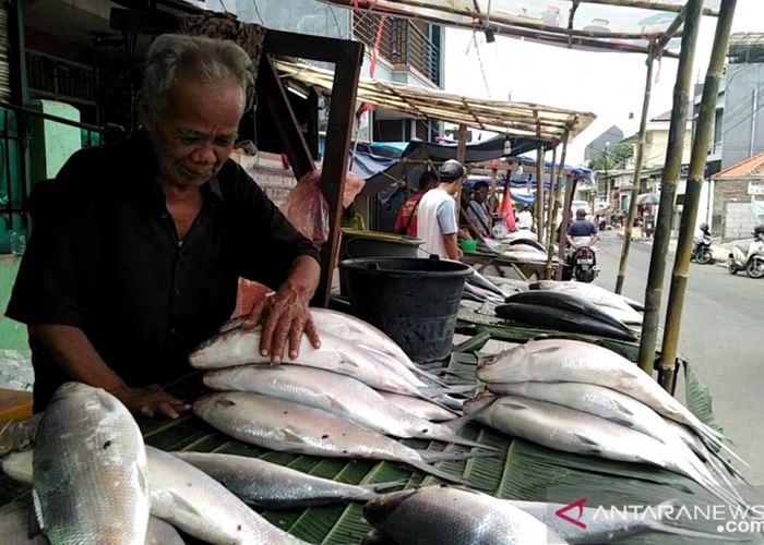
M 164 113 L 167 93 L 177 83 L 179 69 L 192 71 L 202 84 L 234 77 L 241 84 L 247 102 L 254 87 L 252 60 L 234 41 L 164 34 L 148 48 L 143 74 L 144 101 L 152 116 Z

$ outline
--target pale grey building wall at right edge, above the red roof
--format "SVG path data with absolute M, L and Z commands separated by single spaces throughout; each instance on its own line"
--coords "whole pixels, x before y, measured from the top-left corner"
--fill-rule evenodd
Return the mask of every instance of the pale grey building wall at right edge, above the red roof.
M 727 90 L 721 129 L 723 169 L 764 152 L 763 106 L 764 64 L 727 65 Z M 753 154 L 751 154 L 752 140 Z

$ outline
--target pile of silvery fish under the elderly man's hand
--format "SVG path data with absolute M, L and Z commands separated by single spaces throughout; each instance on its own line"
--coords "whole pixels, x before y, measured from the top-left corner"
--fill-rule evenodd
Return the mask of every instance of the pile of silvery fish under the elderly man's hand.
M 311 312 L 321 349 L 303 338 L 299 358 L 288 365 L 272 366 L 260 355 L 259 328 L 228 329 L 199 347 L 191 364 L 207 371 L 204 384 L 217 391 L 198 400 L 194 414 L 259 447 L 404 462 L 468 484 L 432 463 L 486 452 L 423 451 L 397 440 L 417 437 L 489 449 L 457 434 L 468 419 L 437 423 L 421 417 L 422 405 L 429 407 L 426 413 L 439 413 L 441 419 L 456 416 L 443 410 L 461 408 L 462 402 L 450 396 L 454 389 L 417 367 L 397 344 L 365 322 L 332 311 Z

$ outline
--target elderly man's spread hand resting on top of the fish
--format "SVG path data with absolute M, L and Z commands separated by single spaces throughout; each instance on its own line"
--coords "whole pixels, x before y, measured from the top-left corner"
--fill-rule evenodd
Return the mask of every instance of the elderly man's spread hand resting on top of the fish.
M 242 329 L 251 329 L 263 323 L 260 338 L 260 353 L 271 356 L 272 363 L 280 363 L 289 343 L 289 359 L 296 360 L 300 353 L 300 342 L 305 332 L 313 348 L 321 348 L 319 334 L 308 308 L 309 298 L 288 284 L 277 293 L 268 295 L 254 305 Z

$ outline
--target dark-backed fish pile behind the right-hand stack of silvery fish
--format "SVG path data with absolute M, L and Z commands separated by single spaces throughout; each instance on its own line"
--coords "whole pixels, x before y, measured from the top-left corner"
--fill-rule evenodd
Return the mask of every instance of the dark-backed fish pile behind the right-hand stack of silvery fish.
M 561 282 L 562 283 L 562 282 Z M 633 341 L 634 331 L 604 307 L 565 290 L 530 290 L 496 307 L 500 318 L 560 331 Z

